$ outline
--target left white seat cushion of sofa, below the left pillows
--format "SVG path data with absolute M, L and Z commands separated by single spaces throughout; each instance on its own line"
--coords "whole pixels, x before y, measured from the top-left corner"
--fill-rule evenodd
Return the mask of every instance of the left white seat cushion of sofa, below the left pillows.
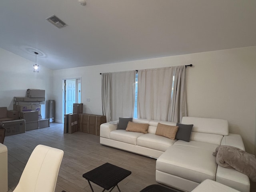
M 110 132 L 110 139 L 137 145 L 137 138 L 141 135 L 143 135 L 143 133 L 114 130 Z

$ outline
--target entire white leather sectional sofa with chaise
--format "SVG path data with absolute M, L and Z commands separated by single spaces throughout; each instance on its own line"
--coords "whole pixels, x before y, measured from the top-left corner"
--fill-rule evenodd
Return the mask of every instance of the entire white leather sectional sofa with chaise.
M 155 134 L 158 122 L 176 126 L 175 122 L 146 119 L 132 121 L 149 124 L 148 133 L 117 130 L 116 124 L 104 123 L 100 126 L 100 143 L 157 158 L 157 182 L 190 192 L 204 180 L 210 179 L 241 192 L 250 192 L 248 176 L 233 168 L 218 166 L 212 155 L 219 145 L 245 150 L 241 136 L 229 134 L 227 120 L 183 117 L 181 124 L 194 125 L 189 142 Z

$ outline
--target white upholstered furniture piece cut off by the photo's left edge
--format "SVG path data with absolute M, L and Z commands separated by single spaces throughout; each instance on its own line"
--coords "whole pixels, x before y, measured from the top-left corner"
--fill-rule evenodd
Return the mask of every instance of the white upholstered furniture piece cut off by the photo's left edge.
M 7 147 L 0 143 L 0 192 L 8 191 Z

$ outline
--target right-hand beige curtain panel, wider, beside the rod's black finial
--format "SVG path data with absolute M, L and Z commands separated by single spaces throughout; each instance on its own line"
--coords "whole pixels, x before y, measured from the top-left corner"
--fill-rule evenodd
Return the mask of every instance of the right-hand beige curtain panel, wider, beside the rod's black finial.
M 186 115 L 185 66 L 138 70 L 138 118 L 180 122 Z

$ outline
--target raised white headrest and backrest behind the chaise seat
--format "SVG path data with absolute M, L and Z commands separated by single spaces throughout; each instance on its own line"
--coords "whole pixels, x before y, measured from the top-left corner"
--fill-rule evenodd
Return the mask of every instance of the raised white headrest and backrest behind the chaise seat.
M 182 124 L 194 124 L 190 140 L 220 145 L 228 135 L 228 121 L 214 118 L 183 117 Z

